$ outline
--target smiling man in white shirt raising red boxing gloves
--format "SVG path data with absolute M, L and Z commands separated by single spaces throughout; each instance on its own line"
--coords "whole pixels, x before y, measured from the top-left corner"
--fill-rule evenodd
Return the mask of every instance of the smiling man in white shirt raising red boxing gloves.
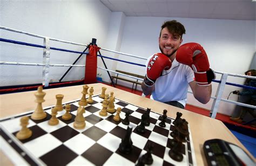
M 146 62 L 143 93 L 151 99 L 184 108 L 190 85 L 194 97 L 201 103 L 211 98 L 211 81 L 215 75 L 210 69 L 203 47 L 197 43 L 182 46 L 185 27 L 171 20 L 161 26 L 159 49 Z M 195 78 L 195 80 L 194 80 Z

